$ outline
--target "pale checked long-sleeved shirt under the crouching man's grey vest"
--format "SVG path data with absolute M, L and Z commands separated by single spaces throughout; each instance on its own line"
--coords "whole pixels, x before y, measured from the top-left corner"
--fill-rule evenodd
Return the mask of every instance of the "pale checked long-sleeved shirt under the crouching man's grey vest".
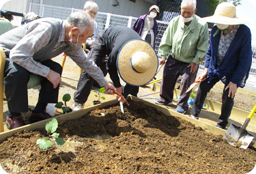
M 18 42 L 18 44 L 16 44 L 16 46 L 14 46 L 14 48 L 12 48 L 10 52 L 10 59 L 33 74 L 46 77 L 50 68 L 42 65 L 39 61 L 33 60 L 33 55 L 48 44 L 52 32 L 50 23 L 42 22 L 39 25 L 29 25 L 25 36 Z M 72 48 L 71 44 L 69 42 L 65 42 L 64 39 L 65 21 L 63 22 L 62 29 L 59 33 L 59 40 L 53 48 L 53 52 L 62 46 L 69 45 L 70 47 L 65 51 L 66 55 L 68 55 L 80 68 L 85 70 L 92 78 L 94 78 L 100 86 L 105 85 L 107 81 L 104 78 L 102 71 L 98 66 L 96 66 L 94 61 L 87 59 L 87 55 L 83 51 L 82 47 L 76 46 L 76 48 Z

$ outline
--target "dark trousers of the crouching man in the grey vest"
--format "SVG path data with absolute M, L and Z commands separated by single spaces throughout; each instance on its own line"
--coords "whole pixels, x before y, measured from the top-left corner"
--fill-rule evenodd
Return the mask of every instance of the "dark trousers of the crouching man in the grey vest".
M 62 72 L 61 66 L 55 61 L 46 60 L 41 63 L 59 74 Z M 30 74 L 25 68 L 14 63 L 12 59 L 6 59 L 4 83 L 10 112 L 24 113 L 28 111 L 27 83 Z M 42 78 L 40 85 L 38 103 L 57 103 L 59 86 L 53 89 L 53 84 L 47 78 Z

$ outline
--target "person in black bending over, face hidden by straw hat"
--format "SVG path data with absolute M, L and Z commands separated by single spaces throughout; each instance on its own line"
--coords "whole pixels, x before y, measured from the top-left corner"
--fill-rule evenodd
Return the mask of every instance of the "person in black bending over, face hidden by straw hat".
M 106 57 L 108 58 L 105 59 Z M 138 33 L 121 25 L 101 31 L 91 46 L 88 58 L 93 60 L 105 75 L 109 73 L 117 92 L 122 93 L 124 98 L 128 94 L 137 96 L 139 86 L 150 82 L 158 69 L 154 48 L 141 40 Z M 118 74 L 126 82 L 124 90 Z M 94 79 L 83 71 L 74 93 L 73 111 L 83 108 L 93 84 Z

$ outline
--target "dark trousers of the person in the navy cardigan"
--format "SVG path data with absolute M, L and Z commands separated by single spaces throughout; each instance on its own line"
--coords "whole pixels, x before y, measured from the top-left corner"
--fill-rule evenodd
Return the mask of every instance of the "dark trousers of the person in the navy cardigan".
M 214 76 L 212 78 L 212 81 L 210 81 L 210 83 L 208 83 L 208 79 L 200 83 L 199 89 L 197 90 L 197 95 L 195 97 L 195 101 L 191 109 L 191 115 L 198 117 L 199 113 L 201 112 L 201 108 L 203 106 L 203 102 L 207 96 L 207 93 L 220 80 L 221 80 L 220 78 L 218 78 L 217 76 Z M 233 99 L 234 99 L 228 96 L 229 89 L 225 90 L 225 87 L 223 89 L 221 116 L 218 118 L 218 126 L 221 126 L 221 128 L 226 128 L 227 126 L 228 119 L 233 108 Z

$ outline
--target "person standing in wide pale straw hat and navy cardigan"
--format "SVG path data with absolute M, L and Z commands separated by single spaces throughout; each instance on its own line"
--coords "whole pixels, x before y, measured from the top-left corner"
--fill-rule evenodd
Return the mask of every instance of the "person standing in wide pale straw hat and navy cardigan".
M 207 93 L 218 81 L 222 81 L 225 87 L 217 127 L 225 129 L 236 90 L 244 87 L 251 68 L 251 31 L 244 25 L 246 20 L 236 17 L 236 6 L 233 3 L 220 3 L 214 15 L 203 20 L 216 25 L 211 31 L 205 68 L 199 76 L 201 83 L 190 117 L 199 118 Z

